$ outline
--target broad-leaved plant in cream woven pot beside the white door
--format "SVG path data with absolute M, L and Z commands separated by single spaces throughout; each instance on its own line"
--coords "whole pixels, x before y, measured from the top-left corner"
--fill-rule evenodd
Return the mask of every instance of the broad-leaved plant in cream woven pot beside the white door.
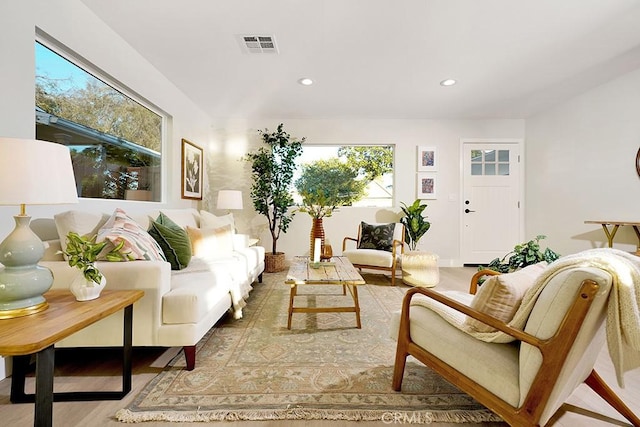
M 404 216 L 400 223 L 404 225 L 404 239 L 409 246 L 409 251 L 402 254 L 402 281 L 407 285 L 435 286 L 440 281 L 438 256 L 417 250 L 418 242 L 431 228 L 431 223 L 423 216 L 426 207 L 420 199 L 401 206 Z

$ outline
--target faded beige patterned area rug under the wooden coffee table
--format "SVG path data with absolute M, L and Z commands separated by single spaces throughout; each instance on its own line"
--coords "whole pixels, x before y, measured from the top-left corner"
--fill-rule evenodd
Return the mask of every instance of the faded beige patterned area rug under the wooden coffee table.
M 255 284 L 244 317 L 230 316 L 197 346 L 196 368 L 179 354 L 125 409 L 122 422 L 326 419 L 412 423 L 500 418 L 412 358 L 402 392 L 391 388 L 389 321 L 406 287 L 364 275 L 362 329 L 354 313 L 294 313 L 287 329 L 286 273 Z M 299 286 L 296 305 L 344 306 L 340 286 Z

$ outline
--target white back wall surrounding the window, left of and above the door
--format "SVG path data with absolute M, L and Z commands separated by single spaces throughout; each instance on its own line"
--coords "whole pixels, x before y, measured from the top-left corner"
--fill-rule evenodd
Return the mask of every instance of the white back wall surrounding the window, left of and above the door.
M 523 120 L 283 120 L 284 129 L 294 137 L 307 138 L 309 144 L 367 144 L 382 143 L 396 146 L 395 189 L 393 208 L 343 208 L 326 218 L 324 228 L 334 253 L 342 249 L 345 236 L 355 237 L 360 221 L 387 222 L 399 218 L 400 202 L 412 203 L 416 198 L 417 146 L 434 146 L 439 157 L 438 198 L 428 200 L 425 211 L 431 229 L 420 241 L 420 247 L 437 253 L 440 265 L 460 265 L 460 139 L 462 138 L 524 138 Z M 234 213 L 240 231 L 261 237 L 261 245 L 271 248 L 266 219 L 247 208 L 250 167 L 240 160 L 242 153 L 259 145 L 258 129 L 275 130 L 280 122 L 216 123 L 216 167 L 209 168 L 211 197 L 220 189 L 241 189 L 245 210 Z M 205 201 L 204 207 L 215 212 L 215 200 Z M 220 213 L 220 212 L 218 212 Z M 297 214 L 289 231 L 281 235 L 278 251 L 287 257 L 302 255 L 309 250 L 311 218 Z

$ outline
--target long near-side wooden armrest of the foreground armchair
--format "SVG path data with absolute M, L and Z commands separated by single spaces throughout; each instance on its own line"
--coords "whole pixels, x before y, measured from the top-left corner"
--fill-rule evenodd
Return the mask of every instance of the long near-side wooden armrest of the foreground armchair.
M 447 307 L 450 307 L 456 311 L 466 314 L 469 317 L 479 320 L 482 323 L 485 323 L 493 328 L 496 328 L 499 331 L 504 332 L 505 334 L 510 335 L 519 341 L 526 342 L 527 344 L 531 344 L 538 348 L 542 346 L 543 341 L 534 337 L 533 335 L 523 332 L 520 329 L 513 328 L 507 325 L 506 323 L 504 323 L 502 320 L 496 319 L 493 316 L 490 316 L 486 313 L 482 313 L 478 310 L 475 310 L 467 305 L 464 305 L 458 301 L 448 298 L 447 296 L 429 288 L 416 287 L 416 288 L 411 288 L 407 291 L 404 297 L 404 300 L 402 301 L 402 314 L 401 314 L 401 321 L 400 321 L 401 323 L 403 321 L 405 322 L 409 321 L 409 308 L 411 306 L 411 299 L 415 294 L 422 294 L 428 298 L 434 299 L 446 305 Z M 406 317 L 406 320 L 405 320 L 405 317 Z M 400 329 L 402 330 L 402 328 Z

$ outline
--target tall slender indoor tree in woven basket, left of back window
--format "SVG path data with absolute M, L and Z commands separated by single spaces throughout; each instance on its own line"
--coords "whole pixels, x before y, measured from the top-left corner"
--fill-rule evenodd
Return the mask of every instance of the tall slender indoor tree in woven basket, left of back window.
M 271 252 L 265 254 L 265 271 L 284 269 L 284 253 L 277 251 L 280 233 L 286 233 L 294 212 L 289 208 L 294 201 L 291 195 L 296 159 L 302 154 L 305 138 L 297 140 L 283 130 L 280 123 L 275 132 L 259 131 L 263 146 L 246 155 L 251 163 L 251 200 L 259 214 L 267 217 L 271 232 Z

